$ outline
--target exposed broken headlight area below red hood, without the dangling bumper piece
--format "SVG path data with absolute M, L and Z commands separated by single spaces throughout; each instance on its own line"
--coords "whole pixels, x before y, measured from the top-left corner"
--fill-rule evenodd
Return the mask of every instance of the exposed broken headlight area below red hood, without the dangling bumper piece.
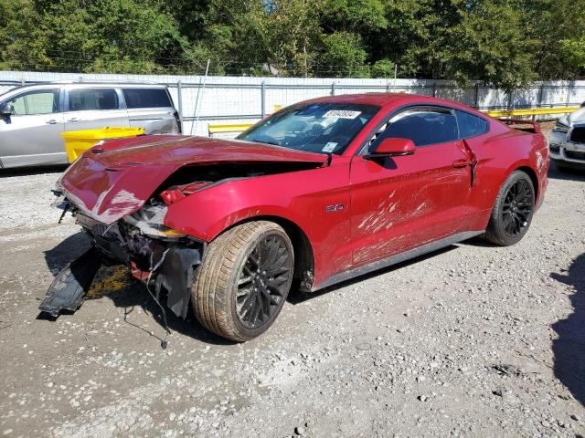
M 105 264 L 129 266 L 157 299 L 185 318 L 194 268 L 201 263 L 206 243 L 165 227 L 166 205 L 150 203 L 134 214 L 100 224 L 83 214 L 77 222 L 91 236 Z

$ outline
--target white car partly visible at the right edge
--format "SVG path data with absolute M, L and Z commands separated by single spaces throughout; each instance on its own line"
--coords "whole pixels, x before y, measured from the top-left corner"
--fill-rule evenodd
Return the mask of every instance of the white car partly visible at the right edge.
M 558 119 L 549 143 L 550 158 L 559 169 L 585 169 L 585 103 Z

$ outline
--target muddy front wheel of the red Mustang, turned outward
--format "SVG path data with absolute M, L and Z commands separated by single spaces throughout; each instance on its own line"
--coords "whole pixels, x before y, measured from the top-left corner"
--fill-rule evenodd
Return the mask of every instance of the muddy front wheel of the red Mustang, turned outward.
M 236 341 L 255 338 L 280 313 L 293 281 L 291 239 L 269 221 L 237 225 L 211 242 L 191 297 L 199 322 Z

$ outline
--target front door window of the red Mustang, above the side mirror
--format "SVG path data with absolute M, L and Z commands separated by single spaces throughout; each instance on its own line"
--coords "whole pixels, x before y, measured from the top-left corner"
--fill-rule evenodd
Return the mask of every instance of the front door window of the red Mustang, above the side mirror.
M 458 138 L 457 121 L 450 110 L 405 110 L 388 121 L 388 128 L 376 139 L 374 147 L 384 139 L 410 139 L 417 147 Z

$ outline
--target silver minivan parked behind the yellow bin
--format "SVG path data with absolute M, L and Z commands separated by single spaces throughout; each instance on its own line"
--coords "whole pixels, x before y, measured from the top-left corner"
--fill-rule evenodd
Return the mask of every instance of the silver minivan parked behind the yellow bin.
M 164 85 L 55 82 L 17 87 L 0 95 L 0 167 L 66 163 L 61 132 L 107 126 L 181 132 Z

